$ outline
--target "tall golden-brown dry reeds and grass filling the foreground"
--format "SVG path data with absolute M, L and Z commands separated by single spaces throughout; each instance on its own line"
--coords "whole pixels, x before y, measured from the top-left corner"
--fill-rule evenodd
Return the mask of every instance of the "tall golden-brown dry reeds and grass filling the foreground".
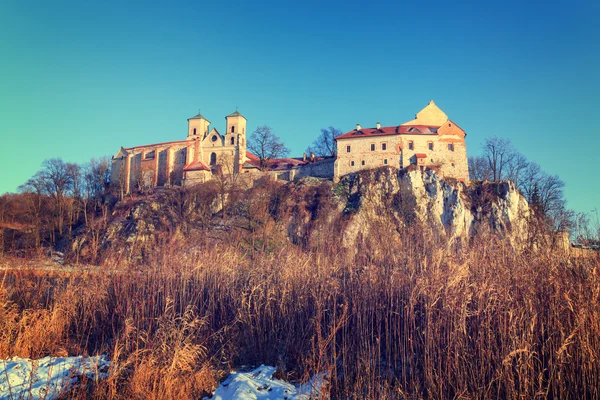
M 600 398 L 597 259 L 383 223 L 350 258 L 334 234 L 267 246 L 265 226 L 165 238 L 143 268 L 3 272 L 0 356 L 109 354 L 71 398 L 199 398 L 260 363 L 325 371 L 332 398 Z

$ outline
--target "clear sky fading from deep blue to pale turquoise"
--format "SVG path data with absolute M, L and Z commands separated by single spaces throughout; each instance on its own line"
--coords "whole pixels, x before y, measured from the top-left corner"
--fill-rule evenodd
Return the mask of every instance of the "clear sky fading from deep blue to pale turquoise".
M 398 125 L 430 100 L 509 139 L 600 208 L 598 1 L 0 1 L 0 193 L 44 159 L 183 140 L 201 113 L 269 125 L 301 156 L 320 129 Z

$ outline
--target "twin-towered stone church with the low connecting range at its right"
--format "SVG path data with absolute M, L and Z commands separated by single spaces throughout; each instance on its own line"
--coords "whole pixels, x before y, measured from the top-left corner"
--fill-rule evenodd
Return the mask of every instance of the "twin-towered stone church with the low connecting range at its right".
M 225 120 L 221 133 L 197 114 L 188 119 L 185 140 L 121 147 L 112 159 L 112 185 L 130 193 L 156 186 L 189 186 L 216 174 L 252 174 L 250 180 L 265 174 L 282 180 L 333 176 L 335 159 L 314 155 L 269 160 L 261 170 L 258 157 L 246 150 L 246 118 L 235 111 Z

